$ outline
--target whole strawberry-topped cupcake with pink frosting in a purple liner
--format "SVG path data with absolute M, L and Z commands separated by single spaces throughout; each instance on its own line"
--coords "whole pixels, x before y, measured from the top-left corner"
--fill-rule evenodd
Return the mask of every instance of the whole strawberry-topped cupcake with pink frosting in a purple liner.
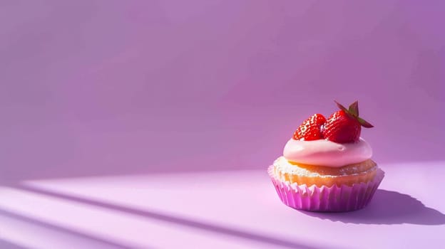
M 359 117 L 358 102 L 327 119 L 312 115 L 287 141 L 268 173 L 281 201 L 305 211 L 342 212 L 367 206 L 384 177 L 372 148 L 360 137 L 372 124 Z

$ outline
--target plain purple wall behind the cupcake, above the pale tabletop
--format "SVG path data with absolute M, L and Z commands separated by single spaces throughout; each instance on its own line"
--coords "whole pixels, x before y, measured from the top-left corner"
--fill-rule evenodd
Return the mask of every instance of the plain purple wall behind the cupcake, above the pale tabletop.
M 444 13 L 444 1 L 0 1 L 0 179 L 265 171 L 333 100 L 359 100 L 375 161 L 421 170 L 445 159 Z

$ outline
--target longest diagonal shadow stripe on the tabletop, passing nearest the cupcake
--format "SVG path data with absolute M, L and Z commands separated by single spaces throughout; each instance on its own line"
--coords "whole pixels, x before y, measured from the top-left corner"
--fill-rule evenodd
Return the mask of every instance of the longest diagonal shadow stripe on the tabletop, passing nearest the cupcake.
M 168 223 L 178 224 L 180 226 L 187 226 L 192 228 L 202 229 L 204 231 L 212 231 L 214 233 L 223 233 L 225 235 L 230 235 L 232 237 L 244 238 L 247 240 L 255 240 L 262 243 L 267 243 L 275 246 L 282 246 L 287 248 L 302 248 L 302 249 L 316 249 L 312 245 L 307 245 L 306 243 L 297 243 L 291 240 L 283 240 L 281 238 L 274 238 L 272 236 L 263 235 L 260 233 L 252 233 L 249 231 L 242 231 L 236 228 L 230 228 L 227 226 L 220 226 L 212 223 L 205 223 L 202 221 L 193 221 L 188 218 L 182 218 L 178 216 L 172 216 L 170 214 L 159 213 L 157 211 L 147 211 L 138 208 L 131 208 L 128 206 L 121 206 L 112 203 L 106 203 L 102 201 L 96 201 L 93 199 L 83 198 L 79 196 L 71 196 L 69 194 L 62 194 L 55 191 L 50 191 L 47 189 L 41 189 L 34 186 L 26 186 L 24 184 L 13 186 L 16 189 L 21 189 L 24 191 L 31 191 L 37 194 L 44 194 L 47 196 L 52 196 L 56 198 L 62 198 L 68 201 L 77 201 L 80 203 L 88 204 L 91 206 L 99 206 L 101 208 L 108 208 L 113 211 L 121 211 L 124 213 L 131 213 L 133 215 L 142 216 L 144 218 L 152 218 L 159 221 L 165 221 Z

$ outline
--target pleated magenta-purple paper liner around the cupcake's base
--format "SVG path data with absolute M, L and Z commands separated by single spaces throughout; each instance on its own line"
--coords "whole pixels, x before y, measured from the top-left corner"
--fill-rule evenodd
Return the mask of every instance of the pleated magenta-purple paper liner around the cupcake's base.
M 343 212 L 364 208 L 384 177 L 384 171 L 377 169 L 374 179 L 366 183 L 318 187 L 280 181 L 275 177 L 273 167 L 269 166 L 267 171 L 281 201 L 291 208 L 315 212 Z

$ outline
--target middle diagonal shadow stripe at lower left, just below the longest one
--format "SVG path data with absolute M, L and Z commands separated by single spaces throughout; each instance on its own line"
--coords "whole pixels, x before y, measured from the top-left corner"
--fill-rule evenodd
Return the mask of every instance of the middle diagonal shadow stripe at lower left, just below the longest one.
M 63 233 L 68 233 L 70 235 L 75 235 L 75 236 L 83 238 L 83 239 L 93 240 L 95 242 L 103 243 L 104 245 L 108 245 L 110 248 L 131 249 L 131 247 L 128 246 L 128 245 L 123 245 L 123 244 L 120 244 L 120 243 L 111 242 L 109 240 L 105 240 L 103 238 L 98 238 L 98 237 L 95 237 L 93 235 L 89 235 L 89 234 L 86 234 L 86 233 L 81 233 L 81 232 L 78 232 L 78 231 L 73 231 L 73 230 L 68 229 L 68 228 L 63 228 L 62 226 L 57 226 L 57 225 L 54 225 L 54 224 L 51 224 L 51 223 L 47 223 L 47 222 L 44 222 L 44 221 L 39 221 L 39 220 L 37 220 L 35 218 L 31 218 L 29 216 L 23 216 L 21 214 L 13 213 L 11 211 L 6 211 L 6 210 L 1 209 L 1 208 L 0 208 L 0 215 L 8 216 L 9 218 L 14 218 L 16 220 L 24 221 L 26 223 L 31 223 L 31 224 L 34 224 L 34 225 L 37 225 L 37 226 L 41 226 L 41 227 L 44 227 L 44 228 L 49 228 L 51 230 L 61 231 Z M 0 245 L 1 245 L 1 241 L 0 241 Z

